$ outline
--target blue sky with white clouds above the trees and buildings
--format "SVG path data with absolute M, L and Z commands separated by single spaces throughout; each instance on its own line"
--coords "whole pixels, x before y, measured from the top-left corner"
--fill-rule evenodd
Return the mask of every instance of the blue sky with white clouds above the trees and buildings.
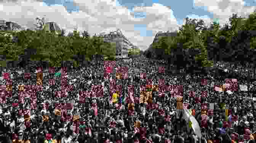
M 90 35 L 120 29 L 127 39 L 146 50 L 159 31 L 176 31 L 186 17 L 228 23 L 232 13 L 247 17 L 256 0 L 0 0 L 0 16 L 32 28 L 46 17 L 67 31 Z

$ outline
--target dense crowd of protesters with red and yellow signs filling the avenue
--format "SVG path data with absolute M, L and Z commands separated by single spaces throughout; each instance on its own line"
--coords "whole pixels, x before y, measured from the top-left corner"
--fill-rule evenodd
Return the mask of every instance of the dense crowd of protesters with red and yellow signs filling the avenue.
M 59 76 L 54 68 L 9 68 L 0 83 L 0 142 L 255 143 L 256 105 L 239 80 L 182 80 L 163 65 L 139 57 L 62 68 Z

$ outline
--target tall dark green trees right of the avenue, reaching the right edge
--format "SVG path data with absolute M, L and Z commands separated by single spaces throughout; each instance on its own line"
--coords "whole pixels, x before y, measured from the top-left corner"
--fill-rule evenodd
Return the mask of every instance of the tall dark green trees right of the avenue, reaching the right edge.
M 207 27 L 203 20 L 186 18 L 177 36 L 160 38 L 144 54 L 185 69 L 211 67 L 217 61 L 255 67 L 255 18 L 256 13 L 246 19 L 233 14 L 222 28 L 217 22 Z

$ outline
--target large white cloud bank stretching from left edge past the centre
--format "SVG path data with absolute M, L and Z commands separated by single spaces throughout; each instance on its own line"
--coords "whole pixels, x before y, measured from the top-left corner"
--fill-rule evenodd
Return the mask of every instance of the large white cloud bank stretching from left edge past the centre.
M 145 50 L 152 43 L 158 31 L 172 31 L 178 24 L 173 11 L 166 6 L 154 3 L 152 6 L 135 7 L 132 11 L 118 5 L 115 0 L 73 0 L 79 11 L 68 13 L 63 5 L 47 6 L 43 2 L 24 0 L 15 3 L 2 3 L 1 19 L 17 22 L 19 25 L 34 27 L 37 16 L 46 16 L 46 21 L 54 21 L 67 31 L 87 30 L 90 35 L 102 31 L 114 31 L 117 28 L 134 45 Z M 134 18 L 133 13 L 142 12 L 145 18 Z M 153 31 L 152 37 L 142 37 L 134 30 L 134 24 L 147 25 Z M 107 32 L 108 33 L 108 32 Z

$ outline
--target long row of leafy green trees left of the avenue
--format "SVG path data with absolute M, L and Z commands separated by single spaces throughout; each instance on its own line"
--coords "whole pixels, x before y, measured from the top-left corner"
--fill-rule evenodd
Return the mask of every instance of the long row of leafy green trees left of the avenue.
M 59 35 L 45 30 L 1 33 L 0 55 L 5 55 L 6 61 L 25 61 L 24 64 L 27 64 L 26 61 L 37 61 L 39 64 L 47 61 L 48 66 L 60 67 L 63 61 L 78 66 L 81 61 L 93 58 L 115 60 L 115 43 L 104 42 L 102 37 L 90 36 L 86 31 L 83 36 L 78 31 L 64 36 L 63 30 Z M 11 35 L 6 36 L 6 33 Z M 13 37 L 17 38 L 15 42 Z

